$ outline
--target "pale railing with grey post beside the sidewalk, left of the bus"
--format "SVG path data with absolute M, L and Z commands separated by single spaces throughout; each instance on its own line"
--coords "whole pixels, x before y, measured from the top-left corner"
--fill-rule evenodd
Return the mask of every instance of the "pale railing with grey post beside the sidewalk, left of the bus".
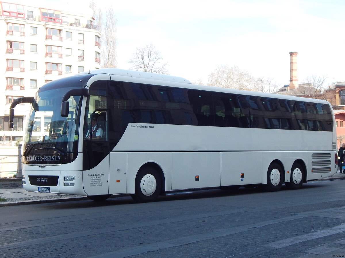
M 22 178 L 22 148 L 2 147 L 0 148 L 0 178 Z

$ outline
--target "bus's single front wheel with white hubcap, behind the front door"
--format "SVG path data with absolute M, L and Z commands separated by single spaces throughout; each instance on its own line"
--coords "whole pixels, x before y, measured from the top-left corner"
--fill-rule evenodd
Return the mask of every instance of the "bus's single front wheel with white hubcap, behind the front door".
M 139 170 L 135 179 L 135 194 L 132 198 L 137 202 L 153 202 L 158 198 L 162 180 L 157 170 L 145 167 Z

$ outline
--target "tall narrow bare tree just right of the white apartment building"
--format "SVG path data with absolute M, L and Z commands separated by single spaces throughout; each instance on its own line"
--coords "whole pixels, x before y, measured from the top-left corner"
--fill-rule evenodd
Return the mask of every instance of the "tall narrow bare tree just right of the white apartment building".
M 103 49 L 102 49 L 102 60 L 103 68 L 116 67 L 116 17 L 112 6 L 106 12 L 106 20 L 102 29 L 103 34 Z

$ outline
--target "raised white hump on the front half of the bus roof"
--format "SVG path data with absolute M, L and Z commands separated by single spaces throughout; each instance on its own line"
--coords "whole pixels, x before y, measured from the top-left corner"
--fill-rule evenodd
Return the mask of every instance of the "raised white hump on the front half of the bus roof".
M 118 69 L 118 68 L 94 69 L 94 70 L 90 70 L 89 72 L 82 72 L 79 74 L 112 74 L 112 75 L 129 76 L 129 77 L 136 77 L 136 78 L 143 78 L 143 79 L 162 80 L 162 81 L 167 81 L 167 82 L 191 84 L 189 80 L 182 77 L 177 77 L 177 76 L 172 76 L 172 75 L 167 75 L 167 74 L 155 74 L 155 73 L 147 73 L 147 72 L 140 72 L 140 71 L 131 71 L 131 70 Z

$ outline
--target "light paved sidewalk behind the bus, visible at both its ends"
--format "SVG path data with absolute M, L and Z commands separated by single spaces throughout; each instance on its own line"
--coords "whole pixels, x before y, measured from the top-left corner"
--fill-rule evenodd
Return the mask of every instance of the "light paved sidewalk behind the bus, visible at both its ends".
M 325 179 L 317 181 L 345 179 L 345 174 L 335 173 Z M 3 200 L 5 199 L 5 200 Z M 27 192 L 21 185 L 21 179 L 0 180 L 0 207 L 25 205 L 34 203 L 52 203 L 89 200 L 86 196 L 70 194 L 32 193 Z

